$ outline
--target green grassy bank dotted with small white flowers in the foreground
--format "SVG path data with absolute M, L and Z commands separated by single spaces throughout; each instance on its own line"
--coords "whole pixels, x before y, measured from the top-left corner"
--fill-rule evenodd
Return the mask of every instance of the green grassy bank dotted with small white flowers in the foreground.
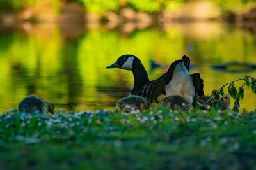
M 0 116 L 0 169 L 252 169 L 255 113 L 164 106 Z

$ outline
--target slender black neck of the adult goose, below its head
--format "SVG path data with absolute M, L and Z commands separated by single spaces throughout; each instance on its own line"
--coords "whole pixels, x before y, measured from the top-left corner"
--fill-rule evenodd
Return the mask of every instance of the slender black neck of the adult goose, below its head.
M 145 84 L 149 82 L 148 74 L 140 60 L 136 60 L 133 64 L 132 73 L 134 76 L 134 88 L 131 94 L 138 92 Z

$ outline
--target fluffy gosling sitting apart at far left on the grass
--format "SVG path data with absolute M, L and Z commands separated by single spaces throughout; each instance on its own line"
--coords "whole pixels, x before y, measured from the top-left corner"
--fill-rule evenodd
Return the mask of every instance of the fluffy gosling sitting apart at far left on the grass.
M 44 101 L 37 96 L 25 97 L 18 106 L 19 112 L 26 111 L 28 113 L 32 113 L 39 110 L 43 114 L 45 114 L 47 111 L 54 113 L 54 108 L 55 106 L 52 101 Z

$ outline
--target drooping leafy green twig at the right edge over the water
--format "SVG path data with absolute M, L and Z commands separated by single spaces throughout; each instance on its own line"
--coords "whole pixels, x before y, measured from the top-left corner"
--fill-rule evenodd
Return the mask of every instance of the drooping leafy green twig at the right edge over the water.
M 251 79 L 251 81 L 249 79 Z M 241 85 L 241 87 L 238 88 L 238 91 L 237 91 L 237 89 L 234 85 L 234 82 L 240 81 L 240 80 L 243 80 L 245 82 L 243 85 Z M 214 97 L 215 103 L 217 103 L 218 100 L 220 99 L 220 94 L 221 94 L 221 96 L 223 96 L 223 94 L 224 94 L 223 88 L 226 85 L 229 85 L 228 86 L 228 94 L 230 94 L 230 96 L 235 100 L 234 107 L 233 107 L 234 111 L 239 111 L 239 107 L 240 107 L 239 101 L 244 98 L 244 88 L 243 88 L 244 85 L 247 85 L 248 87 L 251 86 L 251 90 L 252 90 L 253 94 L 256 94 L 256 79 L 253 77 L 250 77 L 250 76 L 246 76 L 245 78 L 239 78 L 235 81 L 231 81 L 230 83 L 226 83 L 218 90 L 213 90 L 212 96 Z

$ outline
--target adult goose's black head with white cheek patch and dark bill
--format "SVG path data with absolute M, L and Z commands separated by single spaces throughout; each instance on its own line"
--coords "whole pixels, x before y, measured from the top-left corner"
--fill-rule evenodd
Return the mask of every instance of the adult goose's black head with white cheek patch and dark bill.
M 107 69 L 120 68 L 120 69 L 132 70 L 134 67 L 134 60 L 139 60 L 139 59 L 134 55 L 125 54 L 119 57 L 114 64 L 108 66 Z

